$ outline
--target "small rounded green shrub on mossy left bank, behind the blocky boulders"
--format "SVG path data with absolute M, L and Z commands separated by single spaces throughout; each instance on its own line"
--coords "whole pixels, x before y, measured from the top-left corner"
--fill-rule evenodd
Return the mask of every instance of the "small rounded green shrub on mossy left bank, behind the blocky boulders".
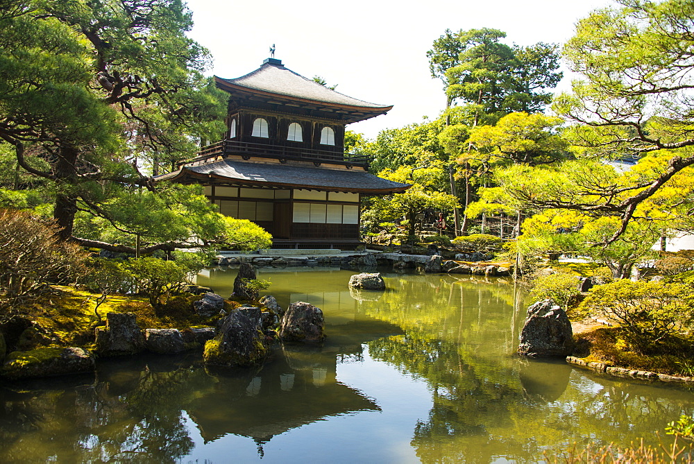
M 139 292 L 149 298 L 155 312 L 162 312 L 172 294 L 189 283 L 189 270 L 175 261 L 153 257 L 129 259 L 123 264 L 137 283 Z

